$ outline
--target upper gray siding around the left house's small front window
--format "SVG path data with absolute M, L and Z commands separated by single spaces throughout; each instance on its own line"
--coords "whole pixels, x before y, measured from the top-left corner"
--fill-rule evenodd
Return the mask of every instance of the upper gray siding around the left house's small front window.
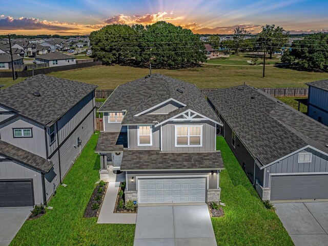
M 13 128 L 32 128 L 32 137 L 14 137 Z M 0 125 L 1 140 L 20 149 L 47 158 L 45 146 L 45 129 L 35 121 L 18 116 Z

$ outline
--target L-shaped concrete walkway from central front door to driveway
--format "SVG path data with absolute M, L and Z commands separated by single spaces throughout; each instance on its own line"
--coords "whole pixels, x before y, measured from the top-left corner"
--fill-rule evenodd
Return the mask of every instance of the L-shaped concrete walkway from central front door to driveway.
M 137 214 L 114 213 L 114 207 L 119 188 L 119 181 L 125 180 L 122 178 L 118 178 L 117 176 L 115 174 L 111 174 L 110 176 L 110 180 L 115 181 L 109 182 L 108 184 L 108 188 L 103 201 L 103 206 L 101 206 L 101 210 L 97 220 L 97 223 L 99 224 L 135 224 L 136 222 Z

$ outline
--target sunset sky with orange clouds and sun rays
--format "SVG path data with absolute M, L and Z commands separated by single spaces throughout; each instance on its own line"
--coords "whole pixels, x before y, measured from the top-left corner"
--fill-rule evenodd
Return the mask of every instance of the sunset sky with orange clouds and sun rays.
M 257 33 L 265 24 L 291 33 L 328 31 L 327 0 L 0 0 L 0 34 L 89 34 L 108 24 L 165 20 L 194 33 Z

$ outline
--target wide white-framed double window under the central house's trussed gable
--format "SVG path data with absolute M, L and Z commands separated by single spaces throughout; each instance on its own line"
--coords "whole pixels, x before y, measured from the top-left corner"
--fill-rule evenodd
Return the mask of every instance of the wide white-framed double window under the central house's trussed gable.
M 188 146 L 202 146 L 202 126 L 175 126 L 175 147 Z

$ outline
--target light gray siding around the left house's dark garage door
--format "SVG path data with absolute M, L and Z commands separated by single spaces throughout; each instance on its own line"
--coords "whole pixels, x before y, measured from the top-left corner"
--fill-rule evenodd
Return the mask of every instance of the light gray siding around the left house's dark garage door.
M 0 158 L 4 158 L 0 156 Z M 32 179 L 34 203 L 43 203 L 42 175 L 39 171 L 16 161 L 0 162 L 0 180 L 1 179 Z

